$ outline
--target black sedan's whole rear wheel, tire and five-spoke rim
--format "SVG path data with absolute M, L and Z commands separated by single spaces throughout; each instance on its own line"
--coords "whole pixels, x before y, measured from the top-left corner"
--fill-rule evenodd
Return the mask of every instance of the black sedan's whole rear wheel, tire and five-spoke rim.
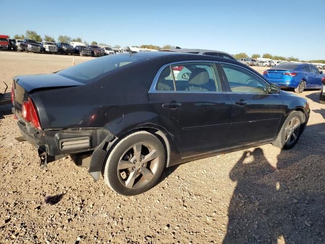
M 165 168 L 165 149 L 160 140 L 146 131 L 121 139 L 109 153 L 104 169 L 105 183 L 125 196 L 152 188 Z

